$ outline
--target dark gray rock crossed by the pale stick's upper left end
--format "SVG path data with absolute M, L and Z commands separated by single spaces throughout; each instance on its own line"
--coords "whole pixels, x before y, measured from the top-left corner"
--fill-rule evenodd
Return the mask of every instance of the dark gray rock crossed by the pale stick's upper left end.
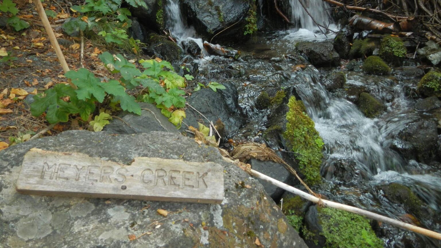
M 285 184 L 292 184 L 294 182 L 293 175 L 281 164 L 273 161 L 260 161 L 254 158 L 250 159 L 247 163 L 251 165 L 251 169 L 257 170 L 280 182 L 284 182 Z M 258 179 L 258 181 L 262 184 L 266 193 L 268 193 L 275 202 L 279 202 L 285 190 L 265 180 Z

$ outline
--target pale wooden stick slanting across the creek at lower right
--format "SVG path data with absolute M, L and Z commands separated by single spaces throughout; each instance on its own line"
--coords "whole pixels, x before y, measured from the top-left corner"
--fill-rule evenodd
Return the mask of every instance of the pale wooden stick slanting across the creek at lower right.
M 293 193 L 295 195 L 299 195 L 303 199 L 309 200 L 309 201 L 311 201 L 313 203 L 318 203 L 318 204 L 321 204 L 322 206 L 325 206 L 325 207 L 332 207 L 332 208 L 348 211 L 348 212 L 351 212 L 351 213 L 354 213 L 354 214 L 360 214 L 360 215 L 366 216 L 368 218 L 371 218 L 371 219 L 374 219 L 374 220 L 377 220 L 377 221 L 380 221 L 380 222 L 385 222 L 385 223 L 388 223 L 388 224 L 391 224 L 391 225 L 395 225 L 395 226 L 403 228 L 403 229 L 411 230 L 411 231 L 413 231 L 415 233 L 421 233 L 423 235 L 426 235 L 427 237 L 432 237 L 432 238 L 441 240 L 441 233 L 437 233 L 437 232 L 434 232 L 434 231 L 431 231 L 431 230 L 428 230 L 428 229 L 424 229 L 424 228 L 418 227 L 416 225 L 407 224 L 407 223 L 401 222 L 401 221 L 396 220 L 396 219 L 385 217 L 385 216 L 380 215 L 380 214 L 375 214 L 375 213 L 372 213 L 370 211 L 360 209 L 358 207 L 352 207 L 352 206 L 348 206 L 348 205 L 345 205 L 345 204 L 342 204 L 342 203 L 336 203 L 336 202 L 333 202 L 333 201 L 321 199 L 321 198 L 318 198 L 318 197 L 316 197 L 314 195 L 310 195 L 310 194 L 308 194 L 306 192 L 303 192 L 303 191 L 301 191 L 301 190 L 299 190 L 297 188 L 289 186 L 288 184 L 284 184 L 284 183 L 282 183 L 282 182 L 280 182 L 280 181 L 278 181 L 276 179 L 268 177 L 265 174 L 262 174 L 262 173 L 260 173 L 258 171 L 253 170 L 253 169 L 248 169 L 248 170 L 249 171 L 247 171 L 247 172 L 250 173 L 251 175 L 253 175 L 255 177 L 258 177 L 258 178 L 260 178 L 262 180 L 265 180 L 265 181 L 267 181 L 267 182 L 269 182 L 271 184 L 274 184 L 274 185 L 276 185 L 279 188 L 283 188 L 284 190 L 286 190 L 288 192 L 291 192 L 291 193 Z

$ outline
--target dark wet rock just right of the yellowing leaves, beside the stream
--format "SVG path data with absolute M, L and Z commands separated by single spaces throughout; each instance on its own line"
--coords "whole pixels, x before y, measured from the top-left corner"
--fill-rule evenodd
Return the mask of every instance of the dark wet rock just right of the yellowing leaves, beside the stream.
M 225 124 L 227 137 L 231 137 L 245 124 L 245 119 L 239 107 L 239 95 L 235 86 L 230 82 L 222 82 L 221 84 L 225 86 L 225 90 L 214 92 L 210 88 L 201 89 L 191 94 L 188 103 L 213 123 L 217 119 L 221 119 Z M 198 127 L 198 122 L 201 122 L 208 126 L 207 120 L 193 109 L 188 108 L 186 115 L 187 118 L 184 119 L 184 122 L 187 125 Z M 186 128 L 182 127 L 181 129 Z

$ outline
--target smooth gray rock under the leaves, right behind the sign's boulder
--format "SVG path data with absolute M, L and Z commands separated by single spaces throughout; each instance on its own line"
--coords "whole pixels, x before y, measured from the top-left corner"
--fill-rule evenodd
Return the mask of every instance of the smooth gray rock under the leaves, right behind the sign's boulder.
M 122 113 L 118 117 L 124 120 L 114 118 L 107 124 L 103 131 L 116 134 L 135 134 L 147 133 L 152 131 L 162 131 L 178 133 L 175 125 L 168 121 L 168 118 L 161 113 L 155 105 L 141 103 L 141 115 L 134 113 Z

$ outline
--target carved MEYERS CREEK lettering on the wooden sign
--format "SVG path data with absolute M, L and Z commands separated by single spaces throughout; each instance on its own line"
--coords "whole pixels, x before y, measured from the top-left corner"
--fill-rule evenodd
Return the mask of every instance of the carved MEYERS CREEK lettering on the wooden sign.
M 176 169 L 144 169 L 133 175 L 127 168 L 110 165 L 75 165 L 44 162 L 41 180 L 74 180 L 91 183 L 123 184 L 127 177 L 135 177 L 146 186 L 171 186 L 177 188 L 208 188 L 205 178 L 208 172 L 193 172 Z

